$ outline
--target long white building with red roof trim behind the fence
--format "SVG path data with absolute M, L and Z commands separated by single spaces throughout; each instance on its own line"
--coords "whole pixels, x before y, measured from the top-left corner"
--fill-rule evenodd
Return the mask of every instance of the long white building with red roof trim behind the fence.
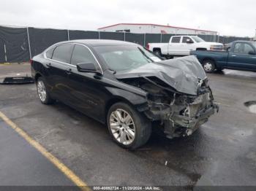
M 98 31 L 109 32 L 130 32 L 138 34 L 204 34 L 217 35 L 217 31 L 206 31 L 194 28 L 184 28 L 176 26 L 161 26 L 147 23 L 119 23 L 113 26 L 98 28 Z

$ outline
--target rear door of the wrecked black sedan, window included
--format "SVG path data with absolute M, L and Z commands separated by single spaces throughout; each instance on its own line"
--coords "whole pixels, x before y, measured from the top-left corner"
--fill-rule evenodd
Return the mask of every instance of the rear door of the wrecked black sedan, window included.
M 70 87 L 68 77 L 70 68 L 70 58 L 74 44 L 60 44 L 54 51 L 51 59 L 48 59 L 48 73 L 51 85 L 51 95 L 54 98 L 69 104 Z M 49 81 L 48 80 L 48 81 Z

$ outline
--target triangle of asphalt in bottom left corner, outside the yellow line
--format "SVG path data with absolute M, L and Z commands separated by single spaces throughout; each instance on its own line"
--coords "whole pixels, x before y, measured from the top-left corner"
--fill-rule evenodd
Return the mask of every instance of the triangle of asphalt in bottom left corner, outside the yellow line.
M 74 186 L 58 168 L 0 120 L 1 186 Z

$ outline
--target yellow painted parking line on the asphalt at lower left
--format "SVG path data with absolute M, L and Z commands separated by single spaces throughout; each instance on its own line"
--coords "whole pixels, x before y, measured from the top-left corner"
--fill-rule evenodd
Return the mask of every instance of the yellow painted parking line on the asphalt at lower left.
M 29 142 L 34 148 L 36 148 L 42 155 L 44 155 L 48 160 L 50 160 L 53 165 L 56 165 L 59 170 L 67 176 L 72 182 L 75 183 L 78 187 L 80 187 L 83 191 L 91 190 L 83 180 L 81 180 L 74 172 L 72 172 L 66 165 L 61 163 L 59 159 L 54 157 L 50 152 L 48 152 L 41 144 L 32 139 L 24 130 L 20 129 L 14 122 L 12 122 L 5 114 L 0 112 L 0 117 L 4 122 L 6 122 L 10 127 L 15 130 L 23 139 Z

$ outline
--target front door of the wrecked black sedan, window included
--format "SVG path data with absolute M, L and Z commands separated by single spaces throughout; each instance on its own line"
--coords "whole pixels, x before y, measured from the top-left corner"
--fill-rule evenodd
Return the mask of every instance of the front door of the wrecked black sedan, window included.
M 100 68 L 89 47 L 83 44 L 75 44 L 72 52 L 71 64 L 76 66 L 78 63 L 94 63 L 95 68 Z M 100 71 L 102 72 L 102 69 Z M 72 105 L 75 109 L 97 120 L 102 120 L 105 100 L 108 98 L 108 90 L 102 79 L 102 75 L 79 72 L 76 68 L 69 74 L 69 94 Z

